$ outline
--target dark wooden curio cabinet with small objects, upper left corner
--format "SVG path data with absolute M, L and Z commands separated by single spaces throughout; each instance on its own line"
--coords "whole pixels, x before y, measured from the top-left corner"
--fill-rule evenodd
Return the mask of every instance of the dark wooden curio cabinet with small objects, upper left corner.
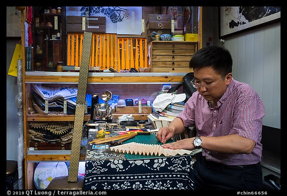
M 55 71 L 57 62 L 65 62 L 65 7 L 61 13 L 44 13 L 45 7 L 35 7 L 36 22 L 32 22 L 34 48 L 33 70 Z M 37 19 L 36 19 L 37 18 Z M 57 36 L 59 35 L 59 36 Z

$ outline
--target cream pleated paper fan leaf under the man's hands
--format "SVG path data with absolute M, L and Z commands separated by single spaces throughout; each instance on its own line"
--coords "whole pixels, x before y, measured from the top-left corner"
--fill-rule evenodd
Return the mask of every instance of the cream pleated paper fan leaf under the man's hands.
M 128 153 L 128 154 L 139 154 L 139 155 L 150 155 L 150 156 L 175 156 L 190 154 L 192 151 L 184 149 L 165 149 L 161 145 L 157 144 L 141 144 L 136 142 L 131 142 L 119 146 L 110 147 L 111 151 Z

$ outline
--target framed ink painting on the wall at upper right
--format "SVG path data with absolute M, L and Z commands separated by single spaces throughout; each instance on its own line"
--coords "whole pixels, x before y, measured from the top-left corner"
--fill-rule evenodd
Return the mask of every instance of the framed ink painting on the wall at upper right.
M 220 6 L 220 37 L 280 20 L 281 7 Z

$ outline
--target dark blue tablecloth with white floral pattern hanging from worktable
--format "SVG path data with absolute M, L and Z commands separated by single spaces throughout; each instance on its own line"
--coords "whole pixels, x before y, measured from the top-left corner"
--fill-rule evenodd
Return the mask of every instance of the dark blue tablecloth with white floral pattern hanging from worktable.
M 85 190 L 193 189 L 191 155 L 86 161 Z

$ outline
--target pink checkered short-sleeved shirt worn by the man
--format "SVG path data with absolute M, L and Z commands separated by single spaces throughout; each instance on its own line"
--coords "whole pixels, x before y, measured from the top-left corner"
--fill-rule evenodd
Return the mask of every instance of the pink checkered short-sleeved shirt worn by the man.
M 185 127 L 195 125 L 199 136 L 217 137 L 229 134 L 249 138 L 256 142 L 253 152 L 228 154 L 202 150 L 207 161 L 225 165 L 251 165 L 262 159 L 262 118 L 264 105 L 259 95 L 248 85 L 232 79 L 226 92 L 214 109 L 196 91 L 177 116 Z

